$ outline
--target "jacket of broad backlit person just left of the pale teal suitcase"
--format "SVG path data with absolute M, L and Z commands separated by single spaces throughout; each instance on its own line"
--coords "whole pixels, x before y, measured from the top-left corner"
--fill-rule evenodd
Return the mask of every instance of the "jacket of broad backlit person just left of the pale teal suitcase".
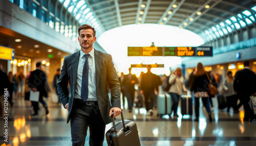
M 151 79 L 150 79 L 151 78 Z M 158 91 L 158 77 L 153 73 L 146 72 L 141 77 L 140 87 L 143 92 L 156 89 Z

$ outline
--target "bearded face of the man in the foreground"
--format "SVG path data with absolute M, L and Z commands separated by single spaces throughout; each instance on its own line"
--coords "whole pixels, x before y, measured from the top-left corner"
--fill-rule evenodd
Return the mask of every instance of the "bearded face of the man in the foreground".
M 78 37 L 78 41 L 82 48 L 91 48 L 93 46 L 93 43 L 96 41 L 96 37 L 93 37 L 93 30 L 81 30 L 80 35 Z

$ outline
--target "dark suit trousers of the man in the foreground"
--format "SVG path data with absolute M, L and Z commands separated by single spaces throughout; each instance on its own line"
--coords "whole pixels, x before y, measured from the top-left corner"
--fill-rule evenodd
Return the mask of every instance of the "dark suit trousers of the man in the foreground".
M 70 115 L 72 145 L 84 145 L 88 127 L 90 130 L 89 144 L 97 146 L 103 144 L 106 125 L 101 117 L 98 104 L 87 105 L 80 99 L 74 99 Z

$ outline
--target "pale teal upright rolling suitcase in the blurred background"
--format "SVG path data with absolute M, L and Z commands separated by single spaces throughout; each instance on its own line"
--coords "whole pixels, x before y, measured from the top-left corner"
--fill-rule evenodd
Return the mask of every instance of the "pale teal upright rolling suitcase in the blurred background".
M 157 96 L 157 116 L 163 116 L 165 114 L 170 115 L 172 112 L 171 99 L 169 94 L 158 94 Z

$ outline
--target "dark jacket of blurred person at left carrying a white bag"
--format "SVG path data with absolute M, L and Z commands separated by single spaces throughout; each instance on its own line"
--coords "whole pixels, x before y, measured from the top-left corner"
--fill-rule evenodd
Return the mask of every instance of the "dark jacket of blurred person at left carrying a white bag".
M 30 88 L 36 88 L 40 96 L 48 96 L 45 89 L 46 73 L 41 69 L 36 69 L 31 72 L 28 85 Z

